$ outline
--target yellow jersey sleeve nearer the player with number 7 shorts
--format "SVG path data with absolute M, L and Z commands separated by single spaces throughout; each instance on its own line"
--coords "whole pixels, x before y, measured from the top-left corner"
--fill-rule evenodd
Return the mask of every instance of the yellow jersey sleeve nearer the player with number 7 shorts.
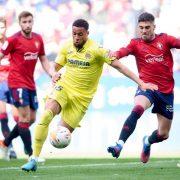
M 64 45 L 62 48 L 60 48 L 59 53 L 55 59 L 55 62 L 61 66 L 64 66 L 67 62 L 67 46 Z

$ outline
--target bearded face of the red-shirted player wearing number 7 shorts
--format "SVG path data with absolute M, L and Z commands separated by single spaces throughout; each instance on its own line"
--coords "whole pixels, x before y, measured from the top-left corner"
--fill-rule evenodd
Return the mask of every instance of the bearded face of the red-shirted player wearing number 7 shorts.
M 27 16 L 27 17 L 22 17 L 19 21 L 19 25 L 21 26 L 21 31 L 25 36 L 29 36 L 32 31 L 32 26 L 33 26 L 33 17 L 32 16 Z

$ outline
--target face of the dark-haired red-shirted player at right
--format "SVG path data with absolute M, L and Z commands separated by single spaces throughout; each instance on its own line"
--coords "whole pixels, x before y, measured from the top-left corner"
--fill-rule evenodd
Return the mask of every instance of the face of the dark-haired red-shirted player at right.
M 154 29 L 155 29 L 155 25 L 153 22 L 145 21 L 138 23 L 138 35 L 144 41 L 151 41 L 154 38 L 155 35 Z

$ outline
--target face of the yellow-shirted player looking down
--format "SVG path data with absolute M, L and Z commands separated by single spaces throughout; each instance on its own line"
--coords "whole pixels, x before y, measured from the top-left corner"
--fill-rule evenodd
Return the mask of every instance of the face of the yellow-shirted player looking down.
M 83 27 L 72 27 L 72 36 L 74 46 L 77 48 L 82 48 L 87 41 L 89 32 Z

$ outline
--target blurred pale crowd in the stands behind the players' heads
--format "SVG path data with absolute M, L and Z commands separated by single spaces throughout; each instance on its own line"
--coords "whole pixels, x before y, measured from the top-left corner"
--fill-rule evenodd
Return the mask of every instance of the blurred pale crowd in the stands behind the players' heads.
M 19 30 L 17 16 L 22 10 L 35 16 L 34 31 L 45 41 L 46 53 L 54 60 L 59 45 L 71 37 L 77 18 L 90 23 L 90 37 L 115 50 L 136 36 L 136 20 L 141 12 L 156 17 L 157 33 L 180 34 L 179 0 L 0 0 L 0 15 L 8 19 L 8 35 Z M 180 69 L 180 53 L 175 52 L 175 70 Z M 134 65 L 133 65 L 134 66 Z

